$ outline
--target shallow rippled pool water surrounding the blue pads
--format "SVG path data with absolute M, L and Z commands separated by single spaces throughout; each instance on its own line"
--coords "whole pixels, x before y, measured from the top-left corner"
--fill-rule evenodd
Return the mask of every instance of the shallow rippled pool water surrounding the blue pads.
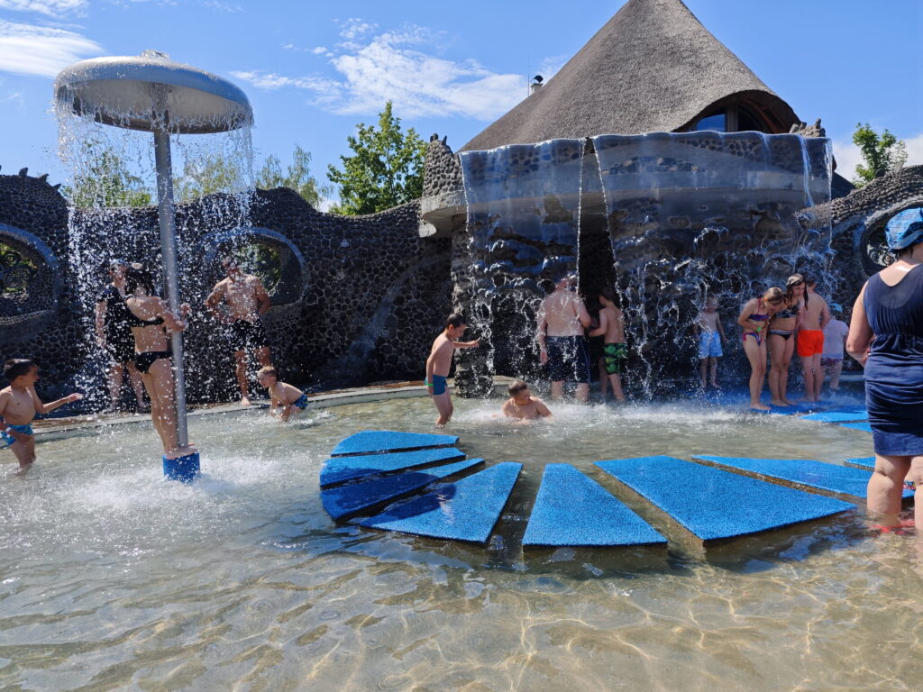
M 488 548 L 336 527 L 320 507 L 326 452 L 431 432 L 425 399 L 192 419 L 192 485 L 162 479 L 149 424 L 40 444 L 23 477 L 0 452 L 0 689 L 920 688 L 923 556 L 860 513 L 707 550 L 649 513 L 668 553 L 516 547 L 548 461 L 605 483 L 595 460 L 840 462 L 869 435 L 689 405 L 557 406 L 533 425 L 456 405 L 469 456 L 524 464 Z

